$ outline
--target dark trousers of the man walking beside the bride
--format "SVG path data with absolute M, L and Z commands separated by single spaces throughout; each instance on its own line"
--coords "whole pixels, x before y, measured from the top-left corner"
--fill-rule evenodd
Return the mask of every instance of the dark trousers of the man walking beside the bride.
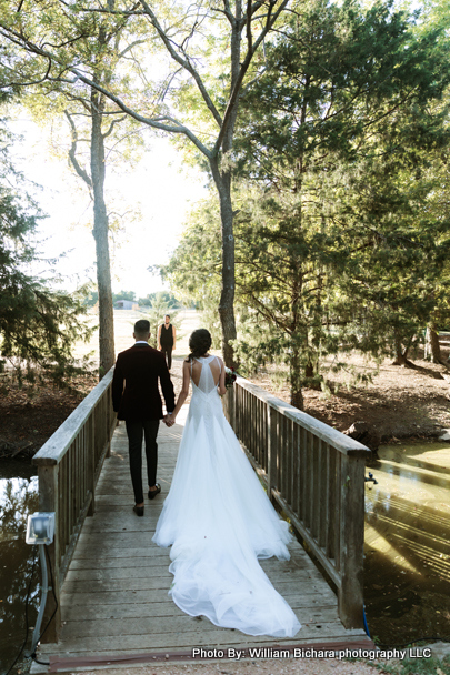
M 146 437 L 147 476 L 149 487 L 157 482 L 159 420 L 136 422 L 126 420 L 128 450 L 130 454 L 130 473 L 136 504 L 143 502 L 142 492 L 142 439 Z

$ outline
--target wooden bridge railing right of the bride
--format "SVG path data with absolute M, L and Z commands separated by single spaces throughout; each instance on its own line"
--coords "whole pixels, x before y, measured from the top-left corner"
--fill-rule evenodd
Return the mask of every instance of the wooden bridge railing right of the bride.
M 270 498 L 334 583 L 344 627 L 362 628 L 369 450 L 242 377 L 223 407 Z

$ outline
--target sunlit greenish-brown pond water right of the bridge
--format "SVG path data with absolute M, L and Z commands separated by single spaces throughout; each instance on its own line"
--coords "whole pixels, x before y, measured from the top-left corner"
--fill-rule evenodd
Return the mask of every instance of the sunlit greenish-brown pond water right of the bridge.
M 378 455 L 378 484 L 366 483 L 371 636 L 389 645 L 450 639 L 450 445 L 399 443 Z

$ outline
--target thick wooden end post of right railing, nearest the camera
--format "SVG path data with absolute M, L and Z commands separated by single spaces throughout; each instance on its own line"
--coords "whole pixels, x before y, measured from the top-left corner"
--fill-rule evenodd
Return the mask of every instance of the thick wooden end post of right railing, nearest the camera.
M 342 456 L 339 617 L 346 628 L 363 628 L 364 459 Z

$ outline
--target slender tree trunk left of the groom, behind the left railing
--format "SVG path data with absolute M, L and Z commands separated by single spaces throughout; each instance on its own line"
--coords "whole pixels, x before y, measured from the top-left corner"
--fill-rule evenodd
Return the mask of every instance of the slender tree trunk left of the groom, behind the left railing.
M 96 240 L 97 284 L 99 291 L 99 351 L 101 379 L 114 364 L 114 322 L 109 258 L 108 214 L 104 203 L 104 139 L 101 132 L 103 97 L 91 94 L 91 177 L 93 192 L 93 239 Z

